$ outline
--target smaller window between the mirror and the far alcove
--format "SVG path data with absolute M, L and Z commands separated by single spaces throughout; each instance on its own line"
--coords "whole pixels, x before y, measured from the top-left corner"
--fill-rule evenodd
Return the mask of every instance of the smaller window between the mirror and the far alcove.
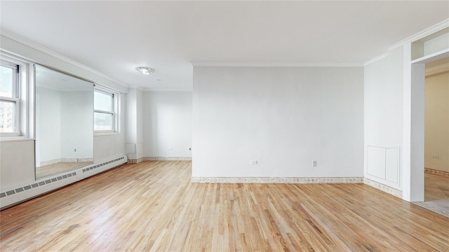
M 93 92 L 93 130 L 95 132 L 117 131 L 117 96 L 115 92 L 95 87 Z

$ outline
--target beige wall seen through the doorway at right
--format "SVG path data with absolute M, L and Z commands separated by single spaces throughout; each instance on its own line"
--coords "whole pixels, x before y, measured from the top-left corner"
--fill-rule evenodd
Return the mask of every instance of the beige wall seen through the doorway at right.
M 424 167 L 449 172 L 448 71 L 426 78 L 425 100 Z

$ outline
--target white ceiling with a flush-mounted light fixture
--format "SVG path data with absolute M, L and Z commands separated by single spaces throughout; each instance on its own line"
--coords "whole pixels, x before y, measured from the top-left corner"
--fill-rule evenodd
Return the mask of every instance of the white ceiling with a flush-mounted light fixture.
M 449 18 L 449 1 L 2 0 L 0 9 L 2 30 L 144 90 L 192 90 L 191 62 L 362 64 Z

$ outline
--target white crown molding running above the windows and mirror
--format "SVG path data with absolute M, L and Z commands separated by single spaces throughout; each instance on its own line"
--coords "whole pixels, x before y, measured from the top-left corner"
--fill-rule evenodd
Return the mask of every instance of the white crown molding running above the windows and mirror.
M 65 57 L 64 55 L 60 55 L 58 52 L 55 52 L 55 51 L 53 51 L 51 49 L 48 49 L 48 48 L 44 47 L 43 45 L 39 45 L 39 44 L 34 43 L 32 41 L 29 41 L 29 40 L 27 40 L 25 38 L 22 38 L 22 37 L 20 37 L 20 36 L 18 36 L 16 34 L 13 34 L 11 31 L 5 31 L 4 29 L 2 29 L 1 30 L 1 36 L 5 36 L 6 38 L 10 38 L 13 41 L 21 43 L 23 45 L 27 45 L 28 47 L 33 48 L 34 50 L 38 50 L 39 52 L 43 52 L 43 53 L 45 53 L 47 55 L 55 57 L 56 59 L 60 59 L 63 62 L 67 62 L 69 64 L 72 64 L 72 65 L 74 65 L 76 67 L 79 67 L 80 69 L 83 69 L 83 70 L 86 70 L 88 72 L 94 73 L 95 75 L 98 75 L 98 76 L 100 76 L 102 78 L 105 78 L 107 80 L 111 80 L 112 82 L 117 83 L 119 85 L 122 85 L 123 87 L 129 87 L 128 84 L 123 83 L 120 80 L 116 80 L 116 79 L 114 79 L 114 78 L 112 78 L 110 76 L 107 76 L 105 73 L 102 73 L 100 71 L 92 69 L 89 66 L 83 65 L 83 64 L 81 64 L 79 62 L 76 62 L 73 59 L 70 59 L 69 57 Z

